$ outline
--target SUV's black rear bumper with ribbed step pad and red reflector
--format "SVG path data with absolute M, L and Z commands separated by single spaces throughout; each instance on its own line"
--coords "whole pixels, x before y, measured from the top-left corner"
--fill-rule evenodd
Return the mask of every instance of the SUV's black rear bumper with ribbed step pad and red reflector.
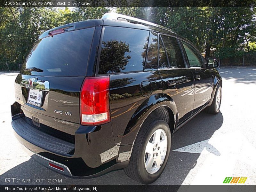
M 13 108 L 12 105 L 12 127 L 16 138 L 33 152 L 28 153 L 32 158 L 56 172 L 69 177 L 95 177 L 122 169 L 129 163 L 129 159 L 120 158 L 119 154 L 130 151 L 132 145 L 116 145 L 111 123 L 97 128 L 80 126 L 72 143 L 72 140 L 68 142 L 68 139 L 56 138 L 43 129 L 38 130 L 26 121 L 28 117 L 24 114 L 15 114 Z

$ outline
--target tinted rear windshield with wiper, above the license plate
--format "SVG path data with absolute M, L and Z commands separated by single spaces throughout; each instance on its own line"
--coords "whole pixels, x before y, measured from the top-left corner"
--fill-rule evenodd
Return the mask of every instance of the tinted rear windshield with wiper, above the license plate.
M 21 73 L 85 76 L 94 29 L 80 29 L 40 39 L 28 54 Z

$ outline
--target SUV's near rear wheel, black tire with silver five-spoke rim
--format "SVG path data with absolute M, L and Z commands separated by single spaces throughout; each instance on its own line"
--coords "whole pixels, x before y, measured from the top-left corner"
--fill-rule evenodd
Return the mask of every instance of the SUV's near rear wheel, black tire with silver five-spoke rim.
M 124 172 L 133 180 L 150 184 L 160 177 L 171 149 L 171 132 L 161 119 L 150 119 L 140 129 Z

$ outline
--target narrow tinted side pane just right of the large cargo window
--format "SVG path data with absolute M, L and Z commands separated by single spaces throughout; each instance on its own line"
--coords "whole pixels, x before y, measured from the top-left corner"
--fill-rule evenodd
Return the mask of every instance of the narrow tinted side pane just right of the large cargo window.
M 145 70 L 157 69 L 158 37 L 157 33 L 151 31 L 148 42 L 148 55 Z

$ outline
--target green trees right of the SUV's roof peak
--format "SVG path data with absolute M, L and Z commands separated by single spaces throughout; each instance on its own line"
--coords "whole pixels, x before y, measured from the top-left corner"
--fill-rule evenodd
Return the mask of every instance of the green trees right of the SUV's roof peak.
M 220 59 L 248 52 L 256 41 L 255 7 L 120 7 L 117 12 L 170 28 Z

